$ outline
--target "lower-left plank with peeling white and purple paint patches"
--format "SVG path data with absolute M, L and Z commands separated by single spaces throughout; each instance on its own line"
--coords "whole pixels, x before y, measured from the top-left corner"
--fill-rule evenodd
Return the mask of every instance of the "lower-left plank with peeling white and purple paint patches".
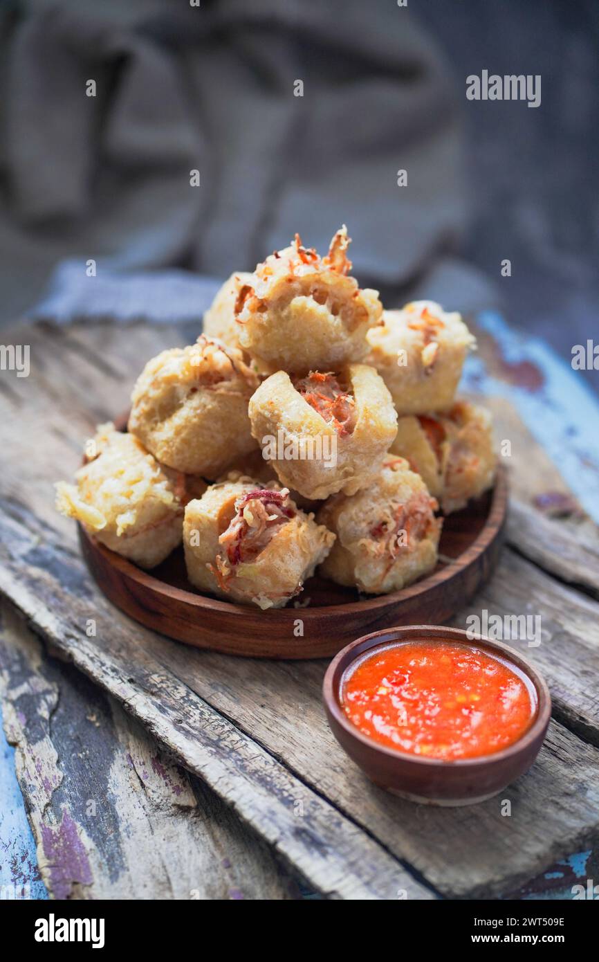
M 299 897 L 271 851 L 211 789 L 118 701 L 42 658 L 6 603 L 2 615 L 5 727 L 54 899 Z

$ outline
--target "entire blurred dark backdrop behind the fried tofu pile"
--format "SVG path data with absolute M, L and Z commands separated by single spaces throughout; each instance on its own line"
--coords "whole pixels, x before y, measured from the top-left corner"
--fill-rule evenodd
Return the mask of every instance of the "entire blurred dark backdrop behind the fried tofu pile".
M 598 53 L 593 0 L 4 0 L 0 323 L 193 319 L 345 222 L 388 306 L 499 306 L 569 361 L 598 330 Z M 540 74 L 540 106 L 466 100 L 483 69 Z

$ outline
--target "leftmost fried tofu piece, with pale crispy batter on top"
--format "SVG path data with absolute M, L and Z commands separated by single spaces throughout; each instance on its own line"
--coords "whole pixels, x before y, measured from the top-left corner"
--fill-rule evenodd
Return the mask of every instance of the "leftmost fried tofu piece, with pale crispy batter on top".
M 57 509 L 112 551 L 154 568 L 181 544 L 185 478 L 162 468 L 113 424 L 97 428 L 87 452 L 90 460 L 75 474 L 76 483 L 56 485 Z

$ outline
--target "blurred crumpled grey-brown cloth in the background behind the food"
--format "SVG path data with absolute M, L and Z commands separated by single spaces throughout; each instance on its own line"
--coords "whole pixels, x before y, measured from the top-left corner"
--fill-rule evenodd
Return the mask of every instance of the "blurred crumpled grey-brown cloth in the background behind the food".
M 410 8 L 37 0 L 2 14 L 0 63 L 1 319 L 187 320 L 232 270 L 295 231 L 325 250 L 342 222 L 387 302 L 492 300 L 457 259 L 460 114 Z

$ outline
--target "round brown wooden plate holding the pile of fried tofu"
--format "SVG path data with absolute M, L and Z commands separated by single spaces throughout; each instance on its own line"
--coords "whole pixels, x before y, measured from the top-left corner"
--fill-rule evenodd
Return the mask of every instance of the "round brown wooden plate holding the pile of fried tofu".
M 506 471 L 500 467 L 492 491 L 445 519 L 442 560 L 410 588 L 361 599 L 352 589 L 314 577 L 306 582 L 298 607 L 265 612 L 199 595 L 187 581 L 183 548 L 149 572 L 95 542 L 81 526 L 80 541 L 104 594 L 148 628 L 231 655 L 323 658 L 389 625 L 440 624 L 451 618 L 495 567 L 507 503 Z

